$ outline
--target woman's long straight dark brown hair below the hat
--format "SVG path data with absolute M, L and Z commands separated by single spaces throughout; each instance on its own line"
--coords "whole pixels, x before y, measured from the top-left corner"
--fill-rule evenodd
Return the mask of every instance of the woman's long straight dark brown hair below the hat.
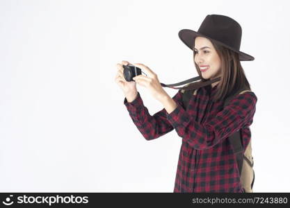
M 239 60 L 239 53 L 236 53 L 225 46 L 222 46 L 213 40 L 210 40 L 216 49 L 218 56 L 221 60 L 221 73 L 220 81 L 217 85 L 217 91 L 214 95 L 213 101 L 223 101 L 228 96 L 235 94 L 240 89 L 250 89 L 250 83 L 245 77 L 245 72 L 241 66 Z M 193 62 L 195 58 L 194 41 L 193 41 Z M 202 78 L 202 73 L 195 63 L 195 69 L 198 71 L 198 75 L 201 77 L 200 82 L 208 81 L 209 79 Z M 211 87 L 211 86 L 206 86 Z

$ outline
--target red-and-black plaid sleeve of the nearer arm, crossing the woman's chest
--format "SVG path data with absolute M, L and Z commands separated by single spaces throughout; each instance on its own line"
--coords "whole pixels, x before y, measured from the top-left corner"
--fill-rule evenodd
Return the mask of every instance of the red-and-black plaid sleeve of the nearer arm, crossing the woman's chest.
M 235 96 L 214 119 L 198 123 L 180 105 L 168 114 L 168 121 L 179 137 L 195 149 L 207 149 L 218 144 L 234 132 L 249 125 L 255 114 L 257 96 L 247 92 Z

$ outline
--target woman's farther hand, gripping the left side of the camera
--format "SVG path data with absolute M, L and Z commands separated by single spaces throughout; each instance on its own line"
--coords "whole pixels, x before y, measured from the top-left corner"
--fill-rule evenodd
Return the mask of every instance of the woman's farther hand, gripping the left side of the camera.
M 127 61 L 122 61 L 122 63 L 117 64 L 117 74 L 115 76 L 115 83 L 119 85 L 119 87 L 122 89 L 122 92 L 124 93 L 124 96 L 126 96 L 127 101 L 131 102 L 136 98 L 138 92 L 137 92 L 137 87 L 136 87 L 136 82 L 131 81 L 127 82 L 124 78 L 124 68 L 122 65 L 128 65 L 130 64 Z

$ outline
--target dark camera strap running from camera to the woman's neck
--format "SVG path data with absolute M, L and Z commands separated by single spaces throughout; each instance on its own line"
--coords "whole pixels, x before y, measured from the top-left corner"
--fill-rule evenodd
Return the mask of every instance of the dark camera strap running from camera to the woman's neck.
M 213 80 L 207 80 L 205 82 L 202 82 L 202 77 L 201 76 L 196 76 L 194 78 L 190 78 L 188 80 L 184 80 L 180 83 L 175 83 L 175 84 L 170 84 L 170 85 L 166 85 L 163 83 L 160 83 L 162 87 L 170 87 L 172 89 L 198 89 L 200 87 L 204 87 L 207 85 L 211 85 L 212 83 L 216 83 L 217 81 L 220 80 L 220 77 L 218 78 L 214 78 Z M 193 83 L 192 83 L 193 82 Z M 186 86 L 186 87 L 175 87 L 175 86 L 179 86 L 179 85 L 185 85 L 187 83 L 191 83 L 190 85 Z

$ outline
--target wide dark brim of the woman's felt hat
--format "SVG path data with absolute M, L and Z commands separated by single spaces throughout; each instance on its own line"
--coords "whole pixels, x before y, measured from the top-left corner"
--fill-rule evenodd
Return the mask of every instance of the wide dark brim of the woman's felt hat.
M 180 40 L 182 40 L 182 42 L 184 42 L 184 44 L 186 44 L 186 46 L 188 46 L 189 49 L 193 50 L 193 41 L 195 40 L 195 37 L 201 36 L 201 37 L 207 37 L 210 40 L 213 40 L 214 42 L 225 46 L 227 49 L 231 49 L 232 51 L 239 53 L 239 60 L 240 61 L 251 61 L 251 60 L 255 60 L 254 57 L 252 57 L 252 55 L 248 55 L 247 53 L 243 53 L 242 51 L 238 51 L 236 49 L 233 49 L 231 46 L 228 46 L 226 44 L 224 44 L 223 42 L 219 42 L 218 40 L 214 40 L 211 37 L 208 37 L 207 35 L 203 35 L 202 33 L 198 33 L 195 31 L 191 31 L 188 29 L 183 29 L 181 31 L 179 31 L 178 36 L 180 38 Z

